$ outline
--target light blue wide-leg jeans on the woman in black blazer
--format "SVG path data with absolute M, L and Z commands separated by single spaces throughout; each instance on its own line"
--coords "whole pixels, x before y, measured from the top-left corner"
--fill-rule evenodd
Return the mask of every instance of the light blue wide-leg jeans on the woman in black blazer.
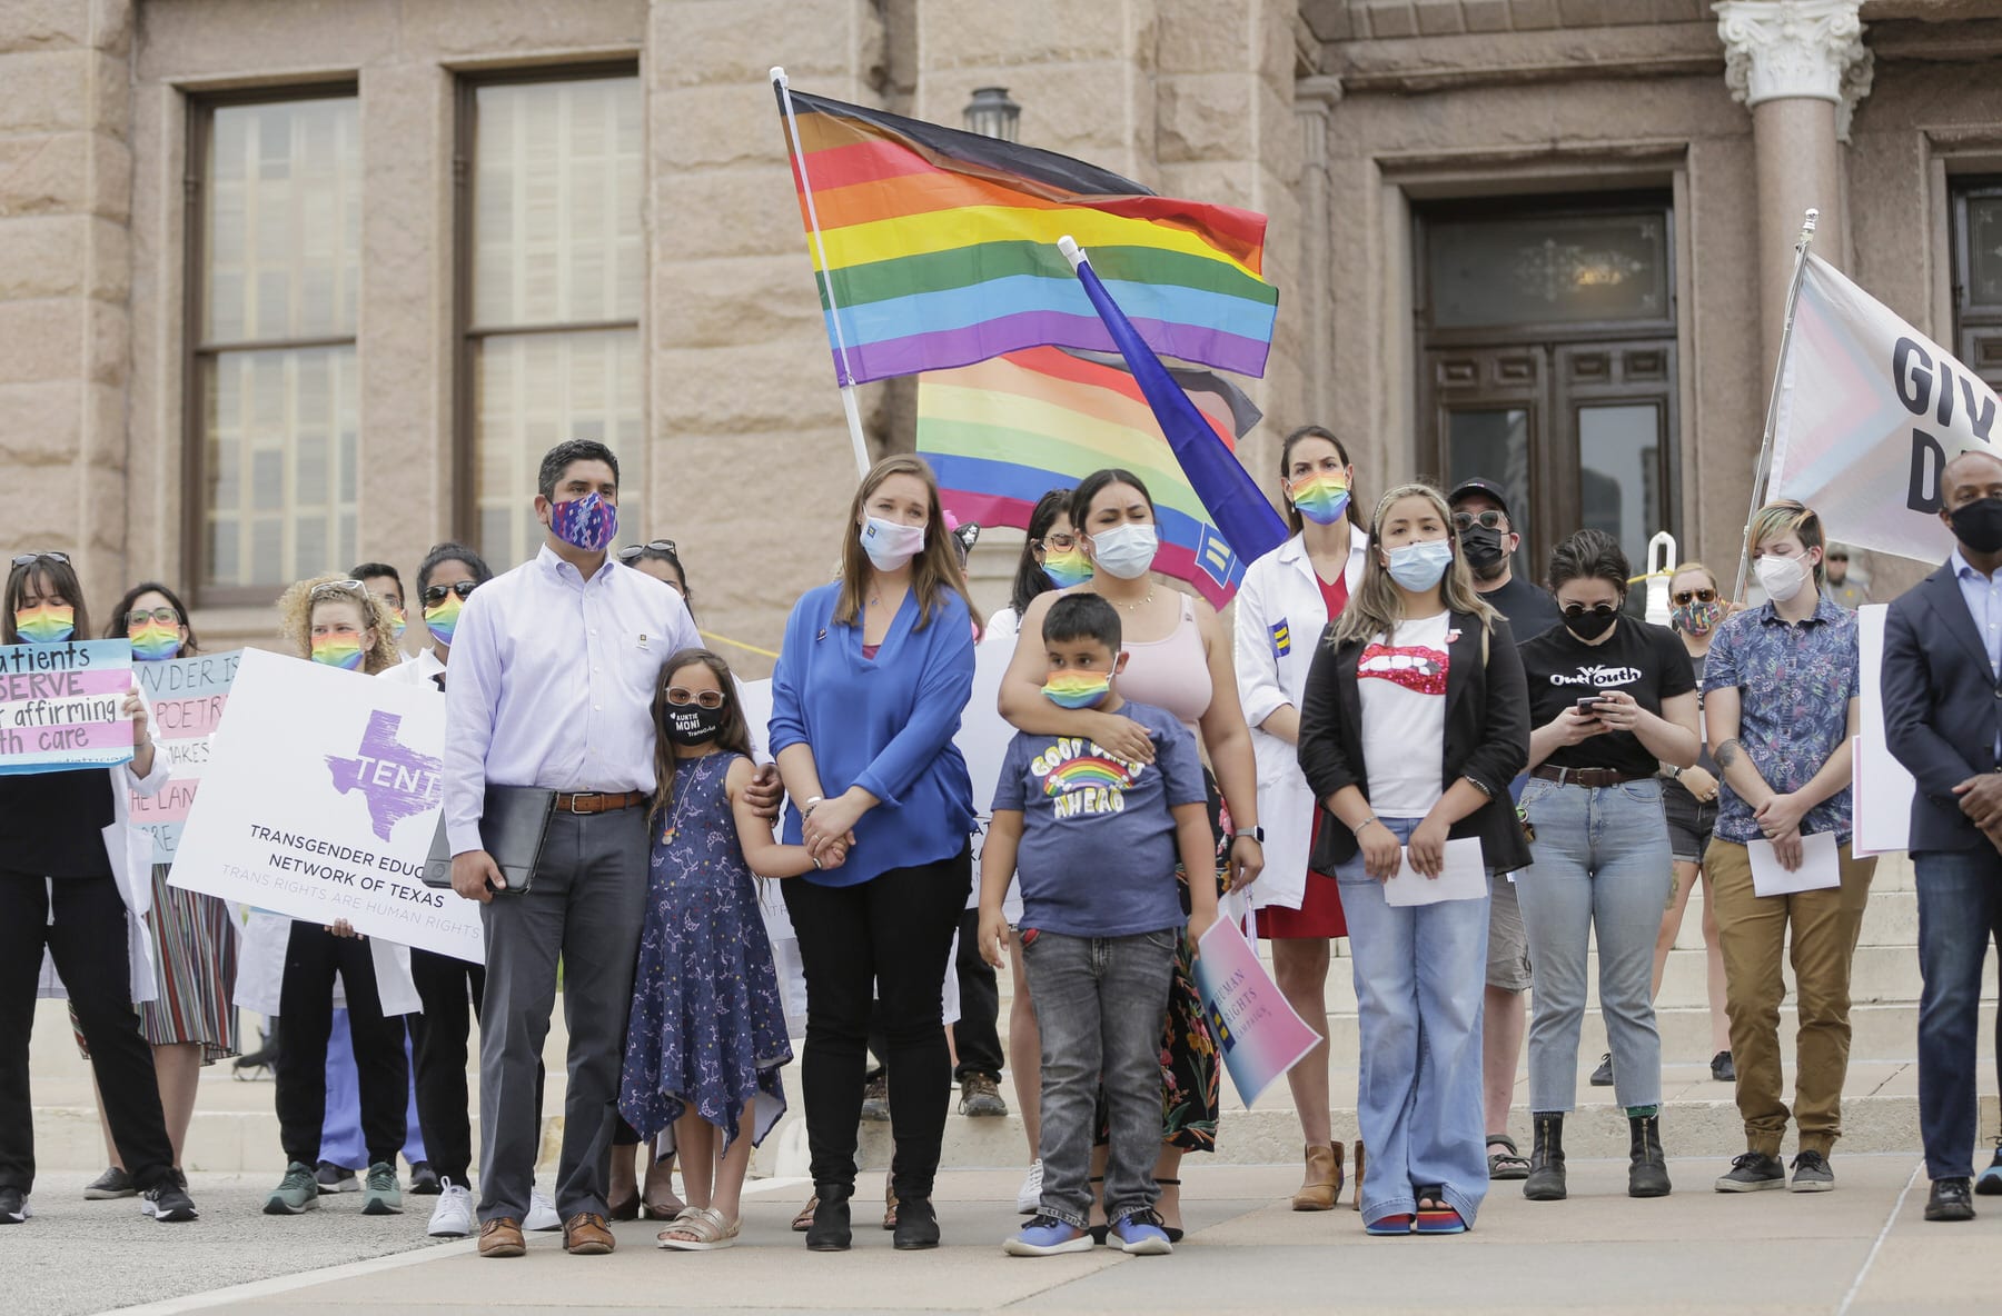
M 1383 818 L 1409 840 L 1419 818 Z M 1417 1210 L 1437 1184 L 1473 1224 L 1487 1196 L 1481 1130 L 1481 1000 L 1487 900 L 1393 908 L 1361 856 L 1335 868 L 1349 920 L 1361 1064 L 1355 1124 L 1369 1146 L 1363 1222 Z M 1047 1174 L 1047 1168 L 1045 1168 Z

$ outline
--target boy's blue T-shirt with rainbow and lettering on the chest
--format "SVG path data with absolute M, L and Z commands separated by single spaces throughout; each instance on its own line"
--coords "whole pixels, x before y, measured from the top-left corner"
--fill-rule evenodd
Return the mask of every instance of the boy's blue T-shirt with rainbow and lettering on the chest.
M 1127 700 L 1117 716 L 1147 730 L 1151 764 L 1115 758 L 1085 736 L 1029 732 L 1017 732 L 1001 760 L 995 812 L 1023 816 L 1023 928 L 1133 936 L 1181 926 L 1169 810 L 1209 798 L 1195 736 L 1151 704 Z

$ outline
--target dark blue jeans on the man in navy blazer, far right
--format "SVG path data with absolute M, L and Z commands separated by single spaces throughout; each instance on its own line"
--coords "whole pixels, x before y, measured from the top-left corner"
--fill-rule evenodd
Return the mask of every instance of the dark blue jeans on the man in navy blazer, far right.
M 1924 850 L 1912 856 L 1918 884 L 1918 1130 L 1926 1176 L 1968 1178 L 1978 1104 L 1976 1044 L 1982 1014 L 1982 958 L 2002 948 L 2002 854 Z M 1996 1022 L 2002 1066 L 2002 1020 Z

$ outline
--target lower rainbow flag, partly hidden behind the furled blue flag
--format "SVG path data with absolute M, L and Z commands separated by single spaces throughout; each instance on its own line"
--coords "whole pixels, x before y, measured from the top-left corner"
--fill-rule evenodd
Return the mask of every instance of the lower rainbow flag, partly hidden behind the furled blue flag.
M 1049 490 L 1075 486 L 1105 466 L 1131 470 L 1155 504 L 1161 552 L 1153 568 L 1187 580 L 1221 608 L 1237 592 L 1245 562 L 1203 510 L 1139 382 L 1117 360 L 1025 348 L 957 370 L 927 370 L 917 382 L 917 450 L 939 474 L 953 516 L 1017 530 L 1029 528 L 1035 500 Z M 1257 424 L 1257 406 L 1227 380 L 1195 368 L 1169 374 L 1223 444 L 1235 448 Z

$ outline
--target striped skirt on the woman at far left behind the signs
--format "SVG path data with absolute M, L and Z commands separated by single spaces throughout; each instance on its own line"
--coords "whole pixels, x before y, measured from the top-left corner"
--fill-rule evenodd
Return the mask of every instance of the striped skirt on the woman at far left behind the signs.
M 242 1054 L 236 1026 L 236 928 L 216 896 L 166 884 L 166 864 L 152 866 L 152 970 L 158 1000 L 138 1006 L 138 1030 L 152 1046 L 198 1042 L 202 1064 Z M 90 1056 L 70 1010 L 76 1050 Z

